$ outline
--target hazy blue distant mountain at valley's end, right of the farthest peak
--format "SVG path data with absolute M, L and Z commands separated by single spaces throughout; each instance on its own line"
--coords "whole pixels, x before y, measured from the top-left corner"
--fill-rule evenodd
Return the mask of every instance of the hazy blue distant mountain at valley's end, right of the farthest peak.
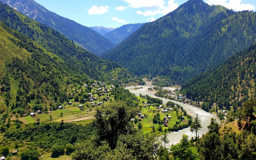
M 145 23 L 125 24 L 105 34 L 104 36 L 114 44 L 119 44 L 120 42 L 125 40 L 127 37 L 129 37 L 131 34 L 133 34 L 143 24 Z

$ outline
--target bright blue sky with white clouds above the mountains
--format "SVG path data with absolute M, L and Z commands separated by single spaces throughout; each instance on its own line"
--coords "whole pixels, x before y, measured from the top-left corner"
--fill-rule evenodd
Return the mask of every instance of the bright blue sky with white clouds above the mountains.
M 118 28 L 152 22 L 188 0 L 35 0 L 46 9 L 87 27 Z M 256 0 L 203 0 L 235 11 L 256 10 Z

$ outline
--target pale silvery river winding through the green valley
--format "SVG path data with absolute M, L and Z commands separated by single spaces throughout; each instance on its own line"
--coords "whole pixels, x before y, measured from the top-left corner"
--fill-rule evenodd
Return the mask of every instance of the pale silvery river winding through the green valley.
M 147 85 L 140 85 L 140 86 L 136 86 L 136 87 L 143 87 L 141 89 L 138 89 L 138 90 L 133 90 L 133 88 L 135 88 L 135 86 L 130 86 L 130 87 L 126 87 L 126 89 L 128 89 L 131 93 L 134 93 L 135 95 L 139 96 L 140 93 L 142 95 L 149 95 L 151 97 L 154 97 L 154 98 L 159 98 L 159 99 L 162 99 L 163 100 L 163 103 L 166 104 L 168 101 L 172 101 L 172 100 L 169 100 L 169 99 L 166 99 L 166 98 L 162 98 L 162 97 L 157 97 L 155 95 L 152 95 L 150 93 L 147 92 L 147 89 L 149 87 L 152 87 L 152 86 L 147 86 Z M 198 117 L 200 118 L 201 120 L 201 130 L 198 131 L 197 135 L 199 135 L 199 137 L 202 136 L 202 134 L 206 133 L 208 131 L 208 128 L 207 126 L 210 124 L 211 122 L 211 118 L 214 117 L 216 118 L 215 116 L 213 116 L 211 113 L 208 113 L 200 108 L 197 108 L 195 106 L 192 106 L 192 105 L 189 105 L 189 104 L 184 104 L 184 103 L 181 103 L 181 102 L 177 102 L 177 101 L 173 101 L 177 104 L 179 104 L 180 106 L 183 106 L 183 108 L 186 110 L 186 111 L 189 111 L 190 113 L 196 115 L 198 114 Z M 220 120 L 218 118 L 216 118 L 217 122 L 220 123 Z M 178 132 L 171 132 L 171 133 L 168 133 L 168 139 L 169 139 L 169 143 L 166 144 L 165 146 L 167 148 L 170 148 L 172 144 L 177 144 L 179 143 L 182 135 L 188 135 L 189 136 L 189 139 L 191 139 L 191 137 L 195 137 L 195 133 L 192 133 L 189 131 L 189 128 L 185 128 L 183 130 L 180 130 Z

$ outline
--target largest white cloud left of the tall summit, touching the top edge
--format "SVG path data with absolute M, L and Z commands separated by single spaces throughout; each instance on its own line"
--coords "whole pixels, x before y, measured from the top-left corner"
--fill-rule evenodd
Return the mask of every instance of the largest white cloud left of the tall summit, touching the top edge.
M 137 10 L 137 14 L 143 16 L 154 16 L 156 14 L 166 15 L 179 7 L 175 0 L 169 0 L 167 6 L 163 0 L 124 0 L 132 8 L 144 8 L 145 11 Z

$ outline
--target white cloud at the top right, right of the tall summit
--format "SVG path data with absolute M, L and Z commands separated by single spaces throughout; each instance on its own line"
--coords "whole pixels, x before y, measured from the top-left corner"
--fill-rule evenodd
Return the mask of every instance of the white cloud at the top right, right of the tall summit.
M 208 0 L 206 3 L 212 5 L 221 5 L 228 9 L 233 9 L 235 11 L 243 11 L 243 10 L 254 10 L 254 6 L 251 4 L 243 4 L 242 0 L 229 0 L 229 3 L 227 3 L 227 0 Z

